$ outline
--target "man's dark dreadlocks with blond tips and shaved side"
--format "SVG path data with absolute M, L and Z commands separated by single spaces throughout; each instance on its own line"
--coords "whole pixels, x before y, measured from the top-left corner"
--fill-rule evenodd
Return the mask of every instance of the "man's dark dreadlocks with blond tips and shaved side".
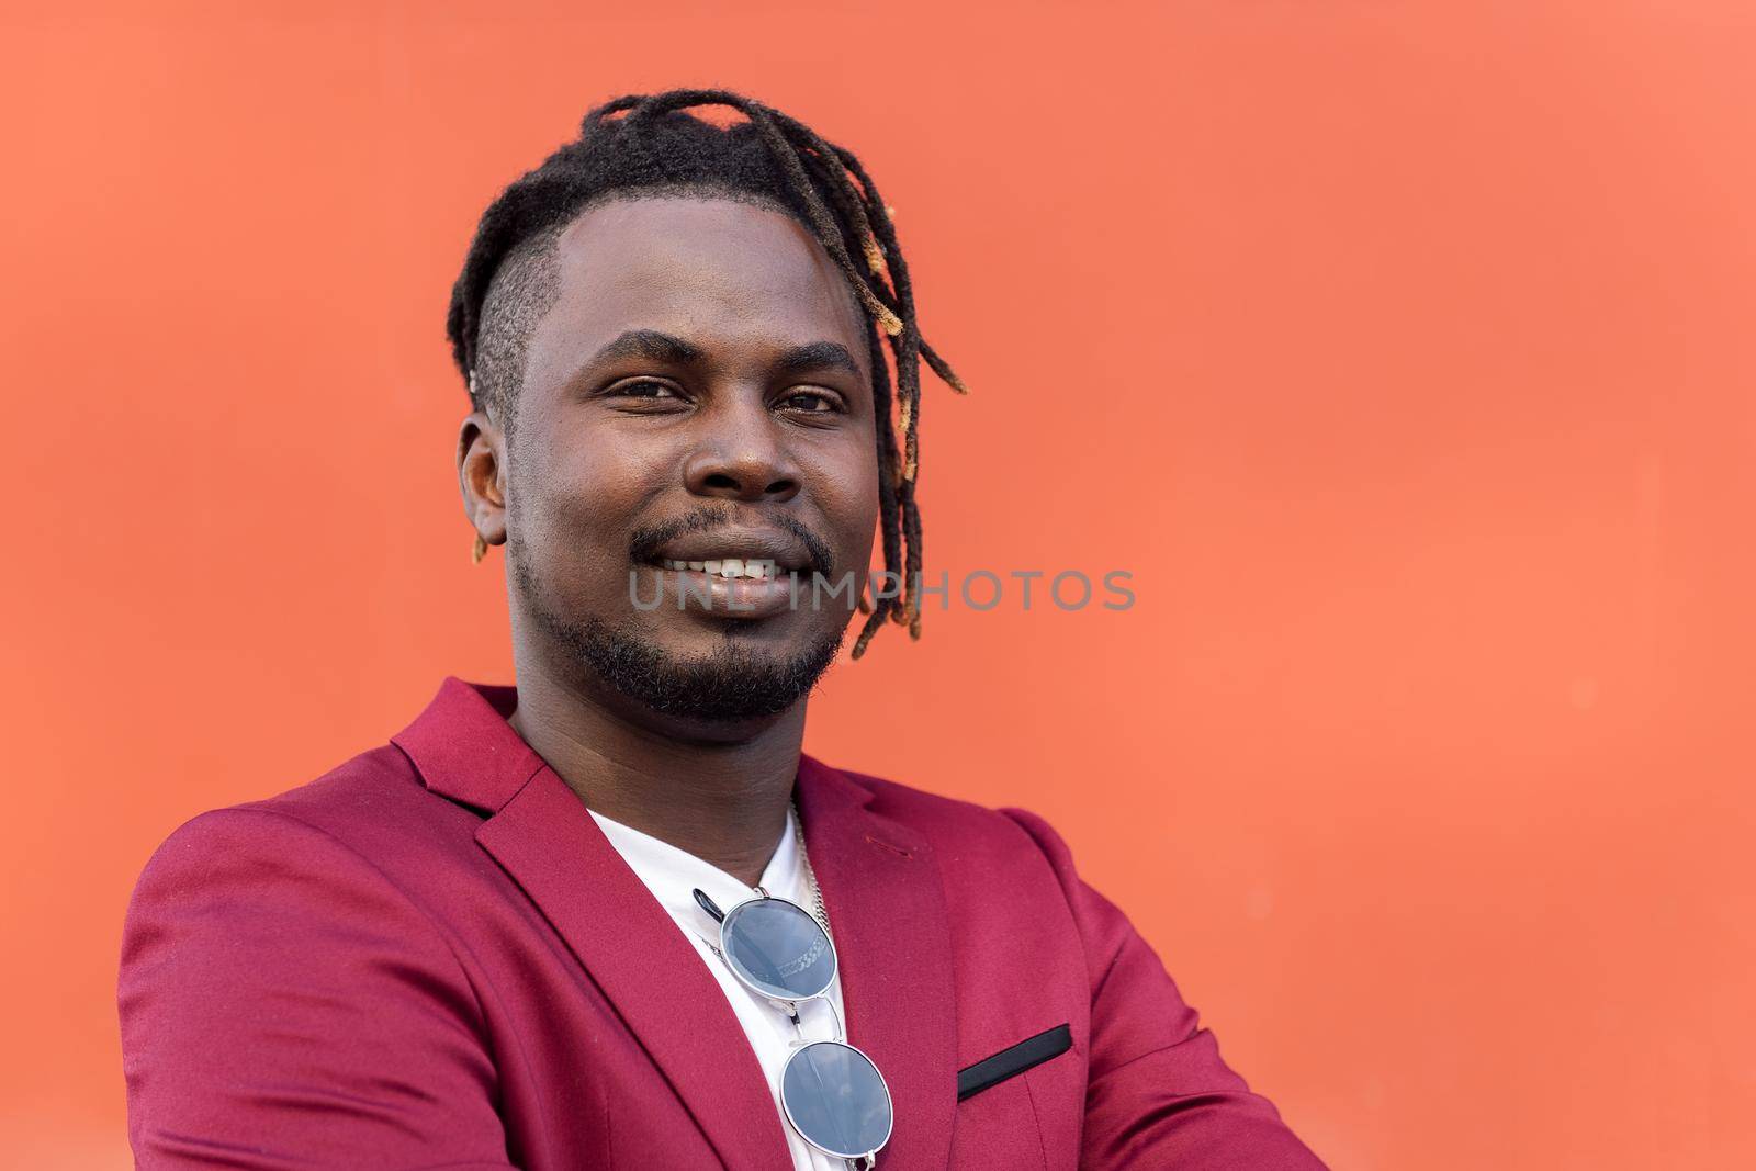
M 699 105 L 730 107 L 745 121 L 716 126 L 683 112 Z M 889 592 L 876 599 L 852 653 L 866 653 L 885 618 L 918 639 L 920 363 L 957 393 L 968 390 L 920 335 L 908 263 L 878 186 L 852 151 L 804 123 L 727 90 L 629 95 L 587 114 L 579 139 L 506 188 L 476 226 L 446 320 L 471 406 L 492 411 L 511 434 L 530 330 L 558 291 L 553 249 L 565 225 L 597 202 L 671 193 L 785 211 L 810 228 L 846 277 L 869 327 L 883 562 L 889 579 L 901 581 L 901 599 Z M 890 421 L 892 399 L 901 444 Z

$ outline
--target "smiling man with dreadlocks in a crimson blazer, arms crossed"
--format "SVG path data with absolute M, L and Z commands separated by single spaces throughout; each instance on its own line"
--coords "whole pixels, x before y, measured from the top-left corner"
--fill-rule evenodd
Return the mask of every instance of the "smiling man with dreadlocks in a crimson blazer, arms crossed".
M 918 363 L 959 386 L 853 154 L 611 102 L 450 334 L 516 686 L 155 853 L 140 1166 L 1321 1166 L 1041 818 L 801 753 L 852 599 L 853 657 L 920 632 Z

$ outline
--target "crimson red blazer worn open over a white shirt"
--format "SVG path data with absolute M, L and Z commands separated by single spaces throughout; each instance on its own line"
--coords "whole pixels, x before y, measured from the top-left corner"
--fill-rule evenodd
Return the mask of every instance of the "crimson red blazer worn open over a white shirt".
M 139 1166 L 792 1166 L 725 994 L 515 699 L 448 678 L 388 744 L 158 848 L 118 985 Z M 878 1167 L 1322 1167 L 1041 818 L 811 757 L 795 797 L 896 1103 Z

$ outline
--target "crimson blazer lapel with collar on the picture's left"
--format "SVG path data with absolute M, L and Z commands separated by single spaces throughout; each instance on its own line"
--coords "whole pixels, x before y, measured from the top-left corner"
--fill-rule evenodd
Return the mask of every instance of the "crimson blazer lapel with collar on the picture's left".
M 453 676 L 392 739 L 428 788 L 492 811 L 476 841 L 565 939 L 722 1162 L 790 1166 L 767 1076 L 725 992 L 585 802 L 506 723 L 515 704 L 515 688 Z

